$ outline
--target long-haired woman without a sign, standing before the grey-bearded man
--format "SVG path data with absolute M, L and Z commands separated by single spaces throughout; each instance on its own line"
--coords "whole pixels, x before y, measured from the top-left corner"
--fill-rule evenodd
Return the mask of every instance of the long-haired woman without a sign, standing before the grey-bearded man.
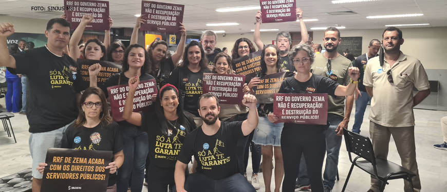
M 183 62 L 172 71 L 168 83 L 179 89 L 184 99 L 184 111 L 194 117 L 197 126 L 202 124 L 199 116 L 197 100 L 202 95 L 203 73 L 211 73 L 202 45 L 193 40 L 186 47 Z

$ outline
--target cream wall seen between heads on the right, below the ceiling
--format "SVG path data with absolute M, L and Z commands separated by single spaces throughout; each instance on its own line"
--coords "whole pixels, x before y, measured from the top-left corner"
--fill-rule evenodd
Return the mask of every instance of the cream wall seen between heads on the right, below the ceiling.
M 382 40 L 382 33 L 384 29 L 370 29 L 370 30 L 341 30 L 341 36 L 362 36 L 363 49 L 366 53 L 369 41 L 373 38 Z M 414 56 L 421 60 L 425 69 L 447 69 L 447 37 L 445 36 L 447 27 L 433 27 L 433 28 L 402 28 L 404 44 L 401 46 L 403 53 Z M 227 47 L 229 53 L 233 48 L 234 42 L 240 37 L 253 39 L 253 33 L 227 34 L 222 37 L 222 34 L 217 34 L 217 47 Z M 316 44 L 323 43 L 324 31 L 313 32 L 313 42 Z M 261 40 L 264 44 L 271 44 L 272 40 L 276 38 L 276 33 L 261 33 Z M 343 44 L 343 38 L 342 38 Z

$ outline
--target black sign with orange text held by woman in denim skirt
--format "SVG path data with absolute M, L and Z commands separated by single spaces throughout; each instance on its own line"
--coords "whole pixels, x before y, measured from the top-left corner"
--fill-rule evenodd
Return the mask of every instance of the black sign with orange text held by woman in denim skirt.
M 272 103 L 273 94 L 278 93 L 281 83 L 289 74 L 290 72 L 281 72 L 260 78 L 259 84 L 253 87 L 257 103 Z

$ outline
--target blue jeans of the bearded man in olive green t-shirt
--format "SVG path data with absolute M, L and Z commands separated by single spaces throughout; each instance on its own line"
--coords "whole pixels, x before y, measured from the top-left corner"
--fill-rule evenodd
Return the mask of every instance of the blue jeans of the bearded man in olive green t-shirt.
M 328 114 L 327 121 L 329 122 L 329 128 L 325 133 L 327 155 L 326 155 L 326 165 L 323 174 L 324 179 L 323 183 L 325 188 L 328 187 L 332 189 L 336 180 L 337 169 L 338 169 L 337 166 L 339 164 L 340 147 L 342 145 L 342 136 L 337 136 L 335 130 L 337 129 L 337 126 L 343 121 L 343 117 L 339 115 Z M 308 177 L 306 170 L 303 170 L 300 167 L 299 176 L 300 176 L 298 178 L 299 181 L 301 181 L 301 178 Z

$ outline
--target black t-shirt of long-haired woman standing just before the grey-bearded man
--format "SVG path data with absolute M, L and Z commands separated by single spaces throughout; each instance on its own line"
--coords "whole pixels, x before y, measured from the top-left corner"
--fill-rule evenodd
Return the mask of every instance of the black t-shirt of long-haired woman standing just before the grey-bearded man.
M 173 84 L 179 90 L 184 92 L 183 109 L 195 116 L 199 116 L 197 109 L 197 100 L 202 95 L 203 73 L 211 73 L 209 69 L 201 69 L 197 73 L 193 73 L 187 66 L 175 68 L 171 77 L 167 79 L 168 83 Z

